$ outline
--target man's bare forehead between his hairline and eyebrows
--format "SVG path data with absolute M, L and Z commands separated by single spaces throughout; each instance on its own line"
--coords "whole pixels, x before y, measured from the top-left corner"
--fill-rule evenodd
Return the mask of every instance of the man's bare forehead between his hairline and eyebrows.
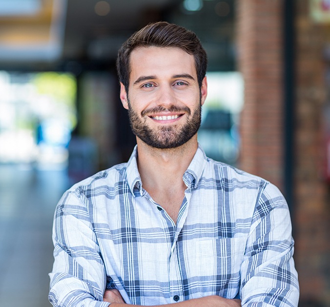
M 197 75 L 194 56 L 178 47 L 138 47 L 131 52 L 130 78 L 165 73 Z

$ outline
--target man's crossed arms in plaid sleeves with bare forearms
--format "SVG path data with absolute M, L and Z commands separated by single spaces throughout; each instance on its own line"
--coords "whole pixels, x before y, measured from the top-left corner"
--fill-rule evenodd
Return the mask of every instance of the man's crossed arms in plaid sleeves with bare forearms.
M 289 211 L 282 197 L 270 201 L 265 196 L 271 189 L 272 186 L 265 186 L 256 205 L 260 208 L 251 220 L 237 288 L 242 301 L 206 294 L 203 298 L 180 301 L 176 306 L 297 306 L 299 287 L 292 259 Z M 116 288 L 106 281 L 108 275 L 115 273 L 105 270 L 106 259 L 97 237 L 101 230 L 93 228 L 90 220 L 93 212 L 83 201 L 84 197 L 81 191 L 66 193 L 57 207 L 50 301 L 62 307 L 107 307 L 107 302 L 114 307 L 123 302 L 135 304 L 129 301 L 123 287 L 118 288 L 120 296 L 116 291 L 105 290 Z M 268 227 L 269 221 L 276 221 L 276 225 Z

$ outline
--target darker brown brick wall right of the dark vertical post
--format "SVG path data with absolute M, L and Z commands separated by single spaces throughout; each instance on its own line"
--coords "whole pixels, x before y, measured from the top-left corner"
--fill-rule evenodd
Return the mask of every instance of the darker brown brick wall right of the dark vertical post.
M 322 127 L 330 25 L 311 20 L 309 0 L 295 0 L 295 10 L 295 259 L 301 301 L 330 306 L 330 202 L 323 178 Z

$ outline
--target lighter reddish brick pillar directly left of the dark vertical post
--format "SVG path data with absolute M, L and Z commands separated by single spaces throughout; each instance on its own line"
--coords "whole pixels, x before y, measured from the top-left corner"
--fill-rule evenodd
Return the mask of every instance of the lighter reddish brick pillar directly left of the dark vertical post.
M 245 82 L 240 167 L 282 189 L 282 5 L 279 0 L 236 3 L 238 69 Z

